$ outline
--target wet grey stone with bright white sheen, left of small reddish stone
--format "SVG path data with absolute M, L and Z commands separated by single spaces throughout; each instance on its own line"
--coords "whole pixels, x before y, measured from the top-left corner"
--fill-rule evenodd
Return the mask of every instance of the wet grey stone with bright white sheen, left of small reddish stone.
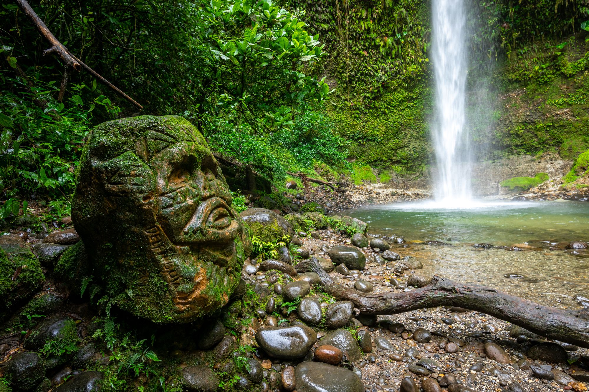
M 317 333 L 306 325 L 269 327 L 257 331 L 256 341 L 270 357 L 296 359 L 307 354 L 317 341 Z

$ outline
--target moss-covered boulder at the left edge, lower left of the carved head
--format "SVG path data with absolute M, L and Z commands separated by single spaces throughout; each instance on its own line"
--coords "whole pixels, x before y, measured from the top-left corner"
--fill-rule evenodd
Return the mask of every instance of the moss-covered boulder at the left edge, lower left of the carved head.
M 4 238 L 2 238 L 4 237 Z M 14 238 L 16 237 L 16 238 Z M 31 297 L 45 277 L 37 257 L 18 236 L 0 236 L 0 312 Z

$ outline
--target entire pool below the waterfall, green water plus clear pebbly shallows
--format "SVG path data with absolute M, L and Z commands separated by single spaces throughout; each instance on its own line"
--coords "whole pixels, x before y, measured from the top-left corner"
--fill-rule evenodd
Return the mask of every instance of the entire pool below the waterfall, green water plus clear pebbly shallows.
M 368 222 L 372 234 L 403 237 L 407 243 L 393 251 L 419 258 L 424 271 L 432 274 L 489 285 L 546 305 L 576 308 L 575 295 L 589 297 L 589 258 L 550 250 L 550 242 L 541 242 L 589 241 L 589 202 L 474 202 L 466 209 L 436 205 L 377 205 L 340 215 Z M 428 240 L 446 245 L 421 242 Z M 479 243 L 519 244 L 521 250 L 474 246 Z

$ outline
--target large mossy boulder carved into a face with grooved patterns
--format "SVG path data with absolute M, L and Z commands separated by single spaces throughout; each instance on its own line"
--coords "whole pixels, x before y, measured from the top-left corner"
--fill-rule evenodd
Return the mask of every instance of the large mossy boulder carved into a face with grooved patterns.
M 87 273 L 121 308 L 173 323 L 227 303 L 251 245 L 216 159 L 186 119 L 98 125 L 76 185 L 72 220 Z

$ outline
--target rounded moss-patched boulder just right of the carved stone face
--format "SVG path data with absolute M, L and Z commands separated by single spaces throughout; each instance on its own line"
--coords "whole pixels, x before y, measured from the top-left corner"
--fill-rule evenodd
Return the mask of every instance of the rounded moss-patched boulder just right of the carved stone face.
M 285 235 L 290 238 L 294 235 L 292 225 L 286 219 L 266 208 L 248 208 L 240 215 L 250 233 L 262 242 L 276 242 Z

